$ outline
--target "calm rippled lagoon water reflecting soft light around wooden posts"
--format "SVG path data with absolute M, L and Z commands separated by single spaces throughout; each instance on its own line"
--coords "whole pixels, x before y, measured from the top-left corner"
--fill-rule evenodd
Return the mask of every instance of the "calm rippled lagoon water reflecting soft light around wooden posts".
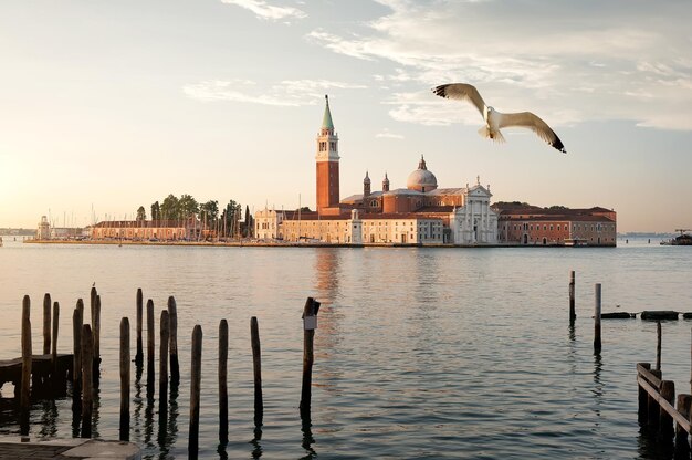
M 0 358 L 21 353 L 24 294 L 32 299 L 33 347 L 40 348 L 45 292 L 61 303 L 59 348 L 71 353 L 72 310 L 96 283 L 103 307 L 97 437 L 118 437 L 120 317 L 130 318 L 134 349 L 137 288 L 154 300 L 157 323 L 175 295 L 182 377 L 165 424 L 158 395 L 150 402 L 141 385 L 133 388 L 130 439 L 146 458 L 187 457 L 195 324 L 205 333 L 201 458 L 670 458 L 637 422 L 635 365 L 656 359 L 656 324 L 605 321 L 604 349 L 594 356 L 594 283 L 602 283 L 605 312 L 692 311 L 690 248 L 631 239 L 616 249 L 462 250 L 9 240 L 0 249 Z M 570 270 L 577 272 L 574 330 Z M 301 313 L 308 295 L 322 309 L 312 426 L 304 427 L 297 405 Z M 253 315 L 262 342 L 261 433 L 253 427 Z M 219 446 L 217 421 L 221 318 L 230 328 L 227 446 Z M 663 324 L 662 368 L 679 393 L 689 389 L 691 325 Z M 3 394 L 11 396 L 11 388 Z M 31 421 L 32 437 L 73 436 L 70 398 L 36 402 Z M 14 416 L 3 410 L 0 432 L 18 431 Z

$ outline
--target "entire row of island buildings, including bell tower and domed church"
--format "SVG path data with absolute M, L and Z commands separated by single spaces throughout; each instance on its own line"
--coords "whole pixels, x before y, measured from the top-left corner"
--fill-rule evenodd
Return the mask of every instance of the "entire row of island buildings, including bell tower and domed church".
M 338 244 L 616 245 L 614 210 L 493 205 L 490 185 L 481 185 L 480 177 L 472 186 L 438 187 L 422 156 L 406 188 L 390 189 L 385 174 L 381 190 L 373 190 L 366 171 L 363 192 L 342 199 L 338 142 L 325 96 L 316 138 L 315 211 L 259 210 L 254 215 L 255 239 Z M 197 219 L 99 222 L 90 233 L 95 240 L 218 238 Z

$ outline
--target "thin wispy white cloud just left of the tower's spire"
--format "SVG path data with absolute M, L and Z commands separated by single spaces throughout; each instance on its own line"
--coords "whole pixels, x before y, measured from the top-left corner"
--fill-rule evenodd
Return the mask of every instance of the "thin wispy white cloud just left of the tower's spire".
M 202 102 L 241 103 L 296 107 L 315 105 L 329 90 L 360 90 L 367 86 L 328 80 L 284 80 L 265 86 L 249 80 L 208 80 L 189 84 L 182 92 Z

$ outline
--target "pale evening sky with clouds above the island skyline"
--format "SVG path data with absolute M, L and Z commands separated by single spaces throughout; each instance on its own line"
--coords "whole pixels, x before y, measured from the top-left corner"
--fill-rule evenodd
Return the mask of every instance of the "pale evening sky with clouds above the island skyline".
M 618 231 L 692 228 L 692 2 L 3 0 L 0 227 L 133 219 L 169 194 L 315 207 L 324 95 L 340 196 L 423 155 L 440 187 L 615 209 Z M 478 134 L 475 85 L 530 130 Z

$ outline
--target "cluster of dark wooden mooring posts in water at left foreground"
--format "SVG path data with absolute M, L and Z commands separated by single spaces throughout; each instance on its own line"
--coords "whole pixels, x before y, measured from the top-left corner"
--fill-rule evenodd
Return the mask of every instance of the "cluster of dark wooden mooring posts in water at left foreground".
M 48 310 L 45 307 L 48 305 Z M 67 380 L 72 380 L 73 388 L 73 411 L 81 414 L 82 427 L 80 436 L 91 438 L 93 396 L 94 389 L 98 388 L 99 365 L 101 365 L 101 296 L 96 289 L 91 291 L 91 324 L 84 324 L 84 303 L 80 299 L 72 316 L 73 320 L 73 355 L 57 355 L 57 322 L 60 318 L 60 305 L 53 305 L 52 314 L 52 339 L 51 339 L 51 314 L 50 294 L 45 294 L 44 300 L 44 355 L 51 353 L 52 344 L 52 366 L 50 375 L 43 376 L 38 373 L 35 366 L 36 357 L 31 352 L 31 321 L 30 321 L 30 299 L 24 296 L 22 309 L 22 363 L 21 363 L 21 389 L 20 394 L 20 426 L 22 435 L 29 432 L 29 408 L 30 396 L 34 395 L 42 380 L 52 381 L 65 387 Z M 137 290 L 136 301 L 136 354 L 135 365 L 139 369 L 144 366 L 144 344 L 143 344 L 143 322 L 144 322 L 144 297 L 141 289 Z M 307 297 L 303 309 L 303 383 L 301 388 L 300 415 L 303 424 L 310 424 L 311 400 L 312 400 L 312 368 L 314 363 L 314 335 L 317 327 L 317 312 L 319 302 L 313 297 Z M 46 313 L 48 312 L 48 313 Z M 153 395 L 156 385 L 155 379 L 155 325 L 154 325 L 154 302 L 147 301 L 147 394 Z M 159 401 L 161 412 L 167 411 L 169 374 L 172 385 L 180 381 L 180 366 L 178 362 L 178 313 L 176 300 L 168 297 L 166 310 L 160 315 L 160 345 L 159 345 Z M 219 323 L 219 441 L 228 442 L 228 322 L 221 320 Z M 262 399 L 262 364 L 260 332 L 258 318 L 250 318 L 250 336 L 253 360 L 254 378 L 254 425 L 261 427 L 264 416 L 264 404 Z M 202 357 L 202 328 L 196 325 L 192 330 L 190 363 L 190 426 L 188 452 L 190 458 L 197 458 L 199 450 L 199 411 L 201 390 L 201 357 Z M 61 366 L 61 356 L 69 358 L 69 365 Z M 45 360 L 45 359 L 44 359 Z M 170 367 L 169 367 L 170 363 Z M 33 374 L 32 374 L 33 367 Z M 130 326 L 129 320 L 120 320 L 120 346 L 119 346 L 119 376 L 120 376 L 120 419 L 119 439 L 129 440 L 130 420 Z M 41 376 L 39 379 L 36 379 Z M 32 383 L 33 377 L 33 383 Z M 53 385 L 53 384 L 51 384 Z

